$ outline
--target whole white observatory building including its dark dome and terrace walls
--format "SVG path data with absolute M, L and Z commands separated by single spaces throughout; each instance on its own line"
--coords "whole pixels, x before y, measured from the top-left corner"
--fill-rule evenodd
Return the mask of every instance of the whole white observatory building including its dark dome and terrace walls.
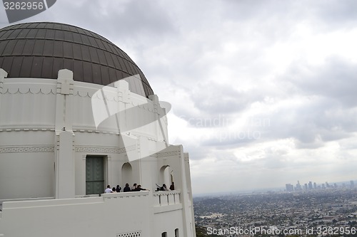
M 0 29 L 0 236 L 196 236 L 188 154 L 169 144 L 166 105 L 94 32 Z

